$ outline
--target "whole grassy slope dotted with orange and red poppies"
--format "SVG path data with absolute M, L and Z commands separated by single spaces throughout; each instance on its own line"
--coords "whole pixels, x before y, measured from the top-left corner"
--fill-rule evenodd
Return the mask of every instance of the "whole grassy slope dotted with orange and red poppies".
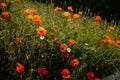
M 120 71 L 120 25 L 87 14 L 0 1 L 0 80 L 102 80 Z

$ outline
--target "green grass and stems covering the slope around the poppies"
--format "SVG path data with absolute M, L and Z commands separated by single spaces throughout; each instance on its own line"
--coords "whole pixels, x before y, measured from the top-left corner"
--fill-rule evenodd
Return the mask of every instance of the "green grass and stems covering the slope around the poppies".
M 8 63 L 3 61 L 4 58 L 0 60 L 9 68 L 8 71 L 14 73 L 9 73 L 7 77 L 18 76 L 13 65 L 22 63 L 24 66 L 26 65 L 23 79 L 43 80 L 42 75 L 37 73 L 37 68 L 42 66 L 48 68 L 51 73 L 45 79 L 55 80 L 61 78 L 60 71 L 69 66 L 72 58 L 78 58 L 80 64 L 75 68 L 69 66 L 71 80 L 80 78 L 85 80 L 86 72 L 89 70 L 94 71 L 95 75 L 100 78 L 105 77 L 111 68 L 113 68 L 113 72 L 120 70 L 120 44 L 116 45 L 116 42 L 120 40 L 119 25 L 107 23 L 104 20 L 100 21 L 100 25 L 96 25 L 95 17 L 86 17 L 86 12 L 83 12 L 78 19 L 74 19 L 74 13 L 70 12 L 70 16 L 66 18 L 63 16 L 65 11 L 55 11 L 53 3 L 46 6 L 46 4 L 29 0 L 13 0 L 10 4 L 10 10 L 8 10 L 10 16 L 0 21 L 0 45 L 2 46 L 0 51 L 1 56 L 8 59 Z M 29 19 L 28 15 L 24 14 L 25 9 L 36 10 L 35 15 L 40 16 L 42 23 L 37 24 Z M 113 26 L 114 30 L 110 30 L 110 26 Z M 43 40 L 37 34 L 38 27 L 44 27 L 47 30 Z M 100 43 L 101 40 L 107 41 L 105 35 L 113 39 L 114 43 Z M 70 39 L 75 40 L 74 45 L 68 43 Z M 59 43 L 56 43 L 57 41 Z M 59 50 L 60 45 L 64 44 L 71 48 L 68 59 L 64 59 L 63 53 Z M 62 55 L 62 57 L 58 55 Z M 56 65 L 52 64 L 52 62 L 55 63 L 54 61 L 56 61 Z M 102 66 L 97 66 L 97 64 Z M 107 70 L 107 66 L 110 69 Z M 35 76 L 35 73 L 38 77 Z

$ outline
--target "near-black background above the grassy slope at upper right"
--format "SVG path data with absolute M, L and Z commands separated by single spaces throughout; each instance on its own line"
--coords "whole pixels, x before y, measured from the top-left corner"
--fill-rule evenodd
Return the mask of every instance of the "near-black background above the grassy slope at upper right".
M 54 6 L 60 6 L 67 9 L 67 6 L 72 6 L 74 12 L 86 11 L 90 9 L 92 15 L 100 15 L 103 19 L 111 22 L 119 22 L 120 20 L 120 1 L 119 0 L 37 0 L 49 4 L 54 2 Z M 89 15 L 86 15 L 89 16 Z

